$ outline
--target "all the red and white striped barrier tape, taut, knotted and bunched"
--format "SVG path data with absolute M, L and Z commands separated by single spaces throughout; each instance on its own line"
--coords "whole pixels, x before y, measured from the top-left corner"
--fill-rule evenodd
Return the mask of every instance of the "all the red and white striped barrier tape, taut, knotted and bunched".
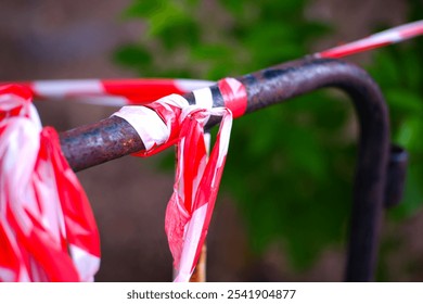
M 423 34 L 423 21 L 315 54 L 341 58 Z M 247 107 L 245 87 L 234 78 L 201 80 L 63 80 L 27 83 L 27 89 L 0 86 L 0 280 L 90 281 L 99 268 L 100 245 L 86 194 L 61 154 L 56 132 L 41 129 L 31 92 L 39 98 L 76 98 L 125 106 L 119 116 L 138 131 L 149 156 L 177 143 L 174 193 L 165 230 L 178 271 L 189 281 L 205 241 L 228 152 L 232 113 Z M 29 91 L 29 90 L 31 91 Z M 216 88 L 215 88 L 216 89 Z M 193 91 L 190 105 L 181 93 Z M 175 94 L 179 93 L 179 94 Z M 215 107 L 214 107 L 215 106 Z M 207 159 L 204 127 L 221 117 Z

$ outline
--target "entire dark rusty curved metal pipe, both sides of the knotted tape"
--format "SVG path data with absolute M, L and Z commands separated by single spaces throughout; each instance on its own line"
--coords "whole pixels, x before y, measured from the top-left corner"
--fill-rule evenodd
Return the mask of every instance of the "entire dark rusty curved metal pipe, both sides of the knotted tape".
M 247 113 L 324 87 L 336 87 L 351 97 L 360 135 L 345 279 L 373 280 L 389 151 L 388 113 L 377 85 L 356 65 L 312 56 L 238 79 L 247 90 Z M 185 98 L 190 101 L 191 94 Z M 118 117 L 63 132 L 61 144 L 75 170 L 144 149 L 132 127 Z

